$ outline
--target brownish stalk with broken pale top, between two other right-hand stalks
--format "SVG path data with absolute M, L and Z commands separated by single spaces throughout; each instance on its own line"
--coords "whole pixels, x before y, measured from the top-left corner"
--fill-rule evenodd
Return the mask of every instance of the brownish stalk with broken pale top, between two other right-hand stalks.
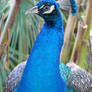
M 78 32 L 77 32 L 77 36 L 76 36 L 76 40 L 75 40 L 75 44 L 74 44 L 74 48 L 73 48 L 73 52 L 72 52 L 72 56 L 71 56 L 71 60 L 75 63 L 77 63 L 79 61 L 80 58 L 80 50 L 81 50 L 81 46 L 83 44 L 83 38 L 84 38 L 84 33 L 87 29 L 87 25 L 84 24 L 83 22 L 79 22 L 78 25 Z

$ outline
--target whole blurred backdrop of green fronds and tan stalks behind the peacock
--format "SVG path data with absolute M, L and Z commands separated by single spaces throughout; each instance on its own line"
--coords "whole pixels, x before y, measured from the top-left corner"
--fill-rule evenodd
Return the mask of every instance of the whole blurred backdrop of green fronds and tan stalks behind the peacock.
M 0 0 L 0 92 L 8 74 L 26 61 L 44 20 L 25 15 L 39 0 Z M 92 74 L 92 0 L 76 0 L 78 12 L 62 11 L 64 46 L 60 61 L 73 61 Z

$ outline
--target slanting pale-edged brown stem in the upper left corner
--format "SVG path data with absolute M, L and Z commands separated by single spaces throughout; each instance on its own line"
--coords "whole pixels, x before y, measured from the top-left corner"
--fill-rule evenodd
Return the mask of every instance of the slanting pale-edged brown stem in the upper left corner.
M 13 4 L 11 6 L 10 12 L 9 12 L 9 16 L 7 18 L 4 30 L 2 32 L 1 38 L 0 38 L 0 45 L 4 45 L 7 44 L 7 31 L 12 29 L 16 15 L 19 11 L 20 8 L 20 4 L 21 4 L 21 0 L 14 0 Z M 0 49 L 0 56 L 2 56 L 3 52 L 4 52 L 5 48 Z

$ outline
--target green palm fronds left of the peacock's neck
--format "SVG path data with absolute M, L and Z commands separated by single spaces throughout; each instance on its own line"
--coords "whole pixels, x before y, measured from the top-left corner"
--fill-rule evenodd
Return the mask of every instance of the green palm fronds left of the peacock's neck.
M 22 0 L 20 10 L 14 21 L 13 28 L 9 33 L 9 73 L 17 64 L 27 59 L 33 43 L 40 30 L 43 20 L 36 15 L 25 15 L 27 9 L 31 8 L 37 0 Z M 4 13 L 6 23 L 11 8 L 12 0 L 0 1 L 0 20 Z M 6 70 L 4 70 L 3 63 L 7 50 L 5 50 L 2 59 L 0 60 L 0 92 L 3 92 L 3 83 L 7 78 Z

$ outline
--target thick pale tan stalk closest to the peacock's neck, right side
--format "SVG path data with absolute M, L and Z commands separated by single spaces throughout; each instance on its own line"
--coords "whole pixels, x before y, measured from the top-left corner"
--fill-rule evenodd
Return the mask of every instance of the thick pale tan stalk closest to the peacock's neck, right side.
M 77 4 L 79 3 L 80 3 L 79 0 L 77 0 Z M 66 63 L 66 61 L 68 60 L 68 56 L 70 52 L 70 42 L 72 39 L 72 35 L 74 33 L 74 29 L 76 27 L 76 23 L 77 23 L 77 15 L 72 16 L 72 14 L 70 14 L 65 29 L 64 46 L 62 48 L 61 57 L 60 57 L 60 61 L 63 61 L 64 63 Z

